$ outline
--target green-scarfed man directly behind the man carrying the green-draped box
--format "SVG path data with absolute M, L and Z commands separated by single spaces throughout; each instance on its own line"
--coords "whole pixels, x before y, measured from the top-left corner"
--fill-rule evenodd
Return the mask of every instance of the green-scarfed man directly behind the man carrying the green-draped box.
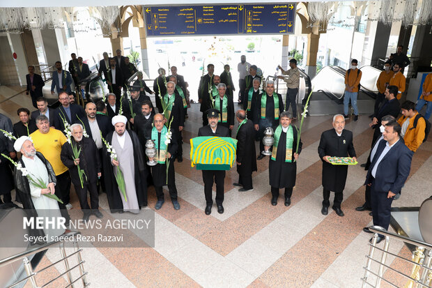
M 217 96 L 215 97 L 214 107 L 219 111 L 219 125 L 229 129 L 229 137 L 231 130 L 234 128 L 234 103 L 233 97 L 226 95 L 226 86 L 224 83 L 217 85 Z

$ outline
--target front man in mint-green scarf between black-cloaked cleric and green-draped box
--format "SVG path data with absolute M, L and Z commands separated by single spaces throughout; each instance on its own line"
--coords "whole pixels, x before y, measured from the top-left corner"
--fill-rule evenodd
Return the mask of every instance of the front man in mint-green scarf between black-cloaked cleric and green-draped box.
M 169 139 L 169 130 L 164 126 L 164 116 L 162 114 L 155 114 L 153 117 L 155 127 L 151 130 L 151 139 L 155 142 L 156 156 L 149 158 L 155 160 L 157 164 L 151 167 L 151 174 L 153 176 L 153 184 L 155 185 L 157 203 L 155 209 L 159 210 L 164 204 L 164 192 L 162 190 L 164 185 L 168 185 L 169 196 L 171 202 L 176 210 L 180 209 L 180 204 L 177 200 L 176 178 L 174 174 L 174 156 L 176 155 L 177 140 L 176 133 L 171 128 L 171 139 Z M 167 175 L 167 160 L 168 160 L 168 175 Z

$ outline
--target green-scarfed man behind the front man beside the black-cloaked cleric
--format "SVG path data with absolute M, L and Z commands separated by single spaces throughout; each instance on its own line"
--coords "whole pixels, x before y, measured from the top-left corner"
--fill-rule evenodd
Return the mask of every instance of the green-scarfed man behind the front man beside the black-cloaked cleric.
M 183 149 L 182 149 L 182 138 L 180 133 L 185 127 L 185 111 L 183 110 L 183 100 L 181 96 L 176 93 L 176 84 L 174 82 L 167 83 L 167 94 L 162 98 L 167 109 L 165 109 L 165 118 L 167 119 L 167 127 L 172 120 L 171 129 L 176 135 L 175 139 L 178 142 L 178 147 L 176 147 L 176 155 L 174 159 L 177 158 L 178 162 L 183 161 Z

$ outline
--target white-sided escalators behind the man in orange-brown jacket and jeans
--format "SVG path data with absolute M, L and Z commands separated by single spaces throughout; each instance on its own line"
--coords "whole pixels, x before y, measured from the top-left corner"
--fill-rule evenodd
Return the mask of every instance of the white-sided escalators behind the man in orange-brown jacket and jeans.
M 372 114 L 375 104 L 376 80 L 381 70 L 372 66 L 362 66 L 360 92 L 357 96 L 357 107 L 360 114 Z M 344 112 L 346 70 L 339 66 L 325 66 L 311 79 L 312 93 L 309 114 L 313 116 L 342 114 Z

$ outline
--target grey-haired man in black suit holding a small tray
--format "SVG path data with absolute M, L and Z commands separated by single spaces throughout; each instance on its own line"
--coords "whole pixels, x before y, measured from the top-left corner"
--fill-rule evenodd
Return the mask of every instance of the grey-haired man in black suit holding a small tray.
M 353 132 L 345 130 L 345 118 L 342 114 L 333 117 L 333 128 L 321 134 L 318 146 L 318 155 L 323 161 L 323 209 L 321 213 L 327 215 L 330 206 L 330 191 L 334 191 L 333 210 L 339 216 L 344 216 L 341 210 L 342 199 L 344 199 L 344 189 L 346 176 L 348 174 L 347 165 L 332 165 L 327 159 L 329 157 L 350 157 L 357 160 L 353 145 Z

